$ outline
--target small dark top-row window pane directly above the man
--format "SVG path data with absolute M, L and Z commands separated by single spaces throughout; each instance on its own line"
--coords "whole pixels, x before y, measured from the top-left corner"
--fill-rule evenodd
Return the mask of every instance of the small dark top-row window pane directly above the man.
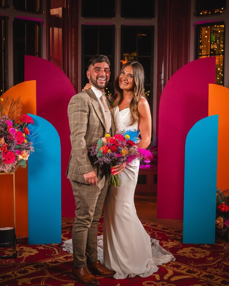
M 113 18 L 115 17 L 115 0 L 82 0 L 82 17 Z

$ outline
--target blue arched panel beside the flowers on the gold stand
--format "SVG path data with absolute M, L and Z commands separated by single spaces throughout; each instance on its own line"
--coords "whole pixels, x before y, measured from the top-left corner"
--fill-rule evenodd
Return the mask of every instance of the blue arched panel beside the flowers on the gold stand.
M 61 243 L 61 148 L 57 130 L 34 120 L 34 152 L 28 160 L 29 244 Z

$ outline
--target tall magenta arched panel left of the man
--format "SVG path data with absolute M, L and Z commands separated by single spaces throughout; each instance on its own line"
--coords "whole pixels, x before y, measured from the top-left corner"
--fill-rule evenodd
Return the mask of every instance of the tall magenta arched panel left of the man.
M 25 80 L 36 80 L 37 115 L 50 122 L 59 134 L 61 144 L 62 216 L 73 217 L 75 200 L 70 181 L 65 173 L 71 151 L 67 108 L 70 98 L 76 92 L 61 69 L 40 57 L 25 56 Z

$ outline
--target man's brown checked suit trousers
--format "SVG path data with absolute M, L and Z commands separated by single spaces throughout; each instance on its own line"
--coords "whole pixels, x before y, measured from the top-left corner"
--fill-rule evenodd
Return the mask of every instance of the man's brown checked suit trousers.
M 97 186 L 70 180 L 76 202 L 72 228 L 73 266 L 82 268 L 98 261 L 98 221 L 108 189 L 108 175 L 98 175 Z

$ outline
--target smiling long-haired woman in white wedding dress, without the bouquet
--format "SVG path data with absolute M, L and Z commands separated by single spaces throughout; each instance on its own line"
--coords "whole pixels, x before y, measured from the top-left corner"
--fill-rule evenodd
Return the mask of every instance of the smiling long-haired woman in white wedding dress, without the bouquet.
M 141 140 L 136 143 L 142 149 L 148 147 L 151 139 L 151 115 L 144 96 L 144 78 L 140 63 L 131 60 L 124 64 L 114 82 L 117 97 L 112 107 L 115 132 L 139 130 Z M 88 84 L 85 86 L 89 87 Z M 122 183 L 119 187 L 109 186 L 104 203 L 103 246 L 98 243 L 98 254 L 103 255 L 99 258 L 101 262 L 104 258 L 107 268 L 116 271 L 116 279 L 136 275 L 147 277 L 158 270 L 156 265 L 175 260 L 158 240 L 150 239 L 137 217 L 134 191 L 138 170 L 137 159 L 126 165 L 122 172 L 116 166 L 113 173 L 120 176 Z M 68 247 L 68 243 L 63 246 Z

